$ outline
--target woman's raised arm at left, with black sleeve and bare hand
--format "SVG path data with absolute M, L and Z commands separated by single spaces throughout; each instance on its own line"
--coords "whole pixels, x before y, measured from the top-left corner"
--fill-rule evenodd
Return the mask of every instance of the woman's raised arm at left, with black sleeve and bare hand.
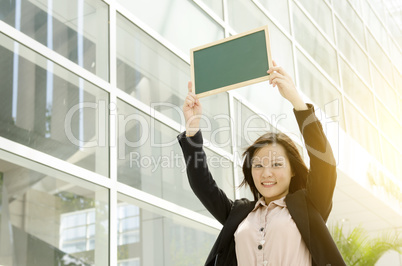
M 203 150 L 203 138 L 199 130 L 202 106 L 188 84 L 188 94 L 183 105 L 186 132 L 178 136 L 186 161 L 187 176 L 194 194 L 205 208 L 221 223 L 225 223 L 233 202 L 217 186 L 208 169 L 207 157 Z

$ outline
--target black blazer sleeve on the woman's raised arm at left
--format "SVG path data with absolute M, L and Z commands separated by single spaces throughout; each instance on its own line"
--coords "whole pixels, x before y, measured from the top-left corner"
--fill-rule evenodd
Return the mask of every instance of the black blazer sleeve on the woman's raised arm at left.
M 217 186 L 208 169 L 201 130 L 193 137 L 186 137 L 183 132 L 177 138 L 183 151 L 191 189 L 205 208 L 223 225 L 233 201 Z

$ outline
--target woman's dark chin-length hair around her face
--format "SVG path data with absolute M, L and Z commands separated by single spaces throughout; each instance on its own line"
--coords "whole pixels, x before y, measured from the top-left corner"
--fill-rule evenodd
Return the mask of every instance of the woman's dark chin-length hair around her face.
M 297 150 L 294 142 L 284 133 L 273 133 L 268 132 L 261 137 L 259 137 L 250 147 L 246 149 L 243 153 L 243 174 L 244 179 L 239 187 L 248 185 L 250 187 L 251 193 L 254 196 L 254 200 L 258 200 L 261 196 L 258 192 L 253 176 L 251 175 L 251 165 L 254 154 L 262 147 L 268 144 L 280 144 L 285 148 L 286 156 L 289 159 L 290 167 L 294 176 L 290 181 L 289 193 L 293 193 L 299 189 L 306 187 L 308 168 L 304 163 L 299 151 Z

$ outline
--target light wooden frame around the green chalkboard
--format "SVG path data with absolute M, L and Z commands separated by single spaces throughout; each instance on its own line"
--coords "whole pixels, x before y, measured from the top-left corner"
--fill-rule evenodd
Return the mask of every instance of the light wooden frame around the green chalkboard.
M 266 46 L 266 57 L 267 57 L 266 60 L 267 60 L 267 66 L 268 66 L 268 68 L 264 70 L 265 74 L 260 74 L 260 76 L 256 77 L 256 78 L 247 79 L 245 81 L 233 83 L 233 84 L 230 84 L 227 86 L 217 87 L 217 88 L 210 89 L 207 91 L 202 91 L 201 89 L 197 89 L 197 84 L 195 82 L 196 81 L 195 75 L 197 74 L 196 72 L 198 71 L 198 69 L 201 67 L 197 65 L 197 62 L 195 62 L 195 60 L 197 60 L 194 56 L 195 53 L 197 53 L 197 52 L 209 53 L 211 51 L 213 52 L 214 49 L 217 49 L 217 47 L 220 47 L 220 49 L 222 49 L 223 48 L 223 46 L 221 46 L 222 44 L 225 45 L 225 43 L 228 44 L 229 42 L 231 42 L 230 44 L 233 45 L 233 44 L 235 44 L 236 41 L 239 41 L 240 39 L 242 40 L 242 42 L 244 42 L 245 39 L 243 37 L 250 38 L 253 34 L 258 33 L 258 32 L 263 32 L 264 37 L 265 37 L 264 40 L 265 40 L 265 46 Z M 253 35 L 253 36 L 255 36 L 255 35 Z M 206 49 L 208 49 L 208 50 L 206 50 Z M 264 53 L 265 53 L 265 50 L 264 50 Z M 245 54 L 245 56 L 247 56 L 247 55 Z M 262 58 L 262 60 L 265 61 L 265 57 Z M 271 58 L 271 47 L 270 47 L 270 40 L 269 40 L 268 25 L 265 25 L 265 26 L 247 31 L 247 32 L 243 32 L 243 33 L 240 33 L 237 35 L 233 35 L 228 38 L 224 38 L 222 40 L 215 41 L 215 42 L 203 45 L 203 46 L 193 48 L 190 50 L 190 63 L 191 63 L 190 67 L 191 67 L 192 91 L 198 96 L 198 98 L 206 97 L 209 95 L 214 95 L 214 94 L 217 94 L 220 92 L 224 92 L 224 91 L 228 91 L 228 90 L 236 89 L 239 87 L 244 87 L 244 86 L 248 86 L 251 84 L 258 83 L 258 82 L 269 80 L 269 75 L 266 73 L 266 71 L 272 67 L 272 58 Z M 207 64 L 203 65 L 202 67 L 208 68 L 208 67 L 211 67 L 212 64 L 214 64 L 213 60 L 211 62 L 208 62 Z M 196 67 L 198 67 L 197 70 L 195 69 L 195 65 L 197 65 Z M 247 66 L 245 66 L 245 67 L 247 67 Z

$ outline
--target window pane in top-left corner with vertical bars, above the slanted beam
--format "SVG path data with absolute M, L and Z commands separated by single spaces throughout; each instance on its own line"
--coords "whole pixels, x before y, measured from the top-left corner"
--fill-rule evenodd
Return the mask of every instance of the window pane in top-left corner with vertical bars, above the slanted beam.
M 0 19 L 108 80 L 108 6 L 98 0 L 2 1 Z

